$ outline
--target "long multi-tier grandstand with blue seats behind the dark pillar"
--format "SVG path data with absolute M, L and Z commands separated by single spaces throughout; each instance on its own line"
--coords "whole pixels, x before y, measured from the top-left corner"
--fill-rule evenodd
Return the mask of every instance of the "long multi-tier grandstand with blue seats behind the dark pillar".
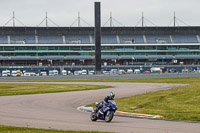
M 102 27 L 102 64 L 199 64 L 200 27 Z M 93 27 L 0 27 L 0 65 L 93 65 Z

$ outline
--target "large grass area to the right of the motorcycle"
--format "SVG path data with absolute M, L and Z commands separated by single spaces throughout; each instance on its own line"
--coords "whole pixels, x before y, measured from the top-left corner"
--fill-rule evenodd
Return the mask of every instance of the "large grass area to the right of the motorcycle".
M 165 119 L 200 121 L 200 78 L 140 79 L 138 81 L 189 85 L 117 99 L 118 110 L 161 115 Z

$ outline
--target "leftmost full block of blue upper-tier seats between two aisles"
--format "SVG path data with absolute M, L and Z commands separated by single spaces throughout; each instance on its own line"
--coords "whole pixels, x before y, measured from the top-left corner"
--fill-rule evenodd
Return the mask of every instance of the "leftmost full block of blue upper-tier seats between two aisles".
M 34 44 L 35 35 L 11 35 L 10 36 L 11 44 Z

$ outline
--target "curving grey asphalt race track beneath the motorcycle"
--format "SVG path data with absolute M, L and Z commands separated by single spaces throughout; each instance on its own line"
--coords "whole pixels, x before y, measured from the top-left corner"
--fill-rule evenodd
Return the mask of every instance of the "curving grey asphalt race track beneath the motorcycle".
M 22 82 L 21 82 L 22 83 Z M 45 82 L 40 82 L 45 83 Z M 49 84 L 49 82 L 46 82 Z M 102 100 L 110 91 L 116 98 L 146 91 L 169 89 L 180 84 L 65 82 L 51 84 L 111 85 L 113 88 L 64 93 L 1 96 L 0 125 L 14 125 L 59 130 L 111 131 L 133 133 L 199 133 L 200 123 L 115 116 L 111 123 L 92 122 L 90 114 L 77 107 Z

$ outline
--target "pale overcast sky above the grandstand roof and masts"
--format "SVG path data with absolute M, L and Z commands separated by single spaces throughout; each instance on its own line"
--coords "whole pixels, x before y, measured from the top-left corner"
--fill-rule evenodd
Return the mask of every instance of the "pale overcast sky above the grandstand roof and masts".
M 0 26 L 12 18 L 13 11 L 15 17 L 26 26 L 39 25 L 45 18 L 46 12 L 59 26 L 70 26 L 78 17 L 78 12 L 83 20 L 93 26 L 94 2 L 95 0 L 0 0 Z M 168 26 L 175 11 L 176 17 L 186 24 L 200 26 L 200 0 L 99 0 L 98 2 L 101 2 L 102 25 L 112 12 L 113 18 L 124 26 L 136 26 L 144 12 L 144 17 L 156 26 Z M 50 26 L 55 26 L 48 22 Z M 120 26 L 116 22 L 113 23 L 115 26 Z M 178 24 L 184 25 L 180 21 Z M 11 25 L 12 22 L 7 26 Z M 22 26 L 17 21 L 16 25 Z M 81 25 L 88 26 L 83 21 Z M 153 26 L 147 21 L 145 25 Z M 45 23 L 41 26 L 45 26 Z M 138 26 L 141 26 L 141 23 Z

